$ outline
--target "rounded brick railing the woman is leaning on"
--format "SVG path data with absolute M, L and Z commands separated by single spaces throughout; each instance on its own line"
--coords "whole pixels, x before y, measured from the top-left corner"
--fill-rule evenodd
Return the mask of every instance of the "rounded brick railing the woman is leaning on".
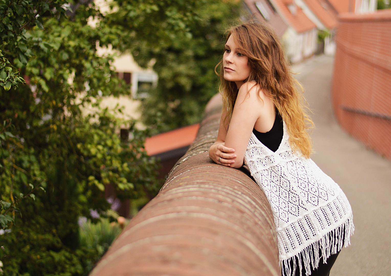
M 245 170 L 208 158 L 221 99 L 206 106 L 197 138 L 160 193 L 127 225 L 93 276 L 280 275 L 273 215 Z

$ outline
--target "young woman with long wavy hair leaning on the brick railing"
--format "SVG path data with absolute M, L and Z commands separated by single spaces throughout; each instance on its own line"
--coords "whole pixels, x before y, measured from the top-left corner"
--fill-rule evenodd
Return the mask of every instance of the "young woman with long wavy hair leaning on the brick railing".
M 353 234 L 341 188 L 309 158 L 312 121 L 282 47 L 264 23 L 233 27 L 220 66 L 223 112 L 209 157 L 246 165 L 274 215 L 284 275 L 328 275 Z

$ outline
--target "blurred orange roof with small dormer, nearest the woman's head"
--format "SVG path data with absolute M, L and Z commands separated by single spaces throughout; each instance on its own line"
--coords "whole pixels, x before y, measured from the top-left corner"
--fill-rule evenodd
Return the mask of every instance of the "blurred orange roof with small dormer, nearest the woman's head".
M 303 13 L 300 7 L 296 6 L 296 14 L 292 14 L 288 9 L 289 4 L 284 3 L 286 0 L 271 0 L 271 2 L 274 3 L 274 7 L 296 32 L 307 32 L 316 28 L 316 25 Z

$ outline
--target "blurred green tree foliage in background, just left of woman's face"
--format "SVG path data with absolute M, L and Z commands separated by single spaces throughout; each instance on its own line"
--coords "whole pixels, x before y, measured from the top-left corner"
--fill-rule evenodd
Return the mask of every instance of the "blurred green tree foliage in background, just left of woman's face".
M 123 12 L 112 16 L 124 21 L 126 13 L 131 12 L 125 12 L 122 2 L 118 3 L 119 11 Z M 238 20 L 240 11 L 239 1 L 184 3 L 193 6 L 194 14 L 191 20 L 184 20 L 185 32 L 170 32 L 182 26 L 172 25 L 168 33 L 158 33 L 153 41 L 148 40 L 150 29 L 136 32 L 136 42 L 129 48 L 140 65 L 146 66 L 151 59 L 156 61 L 153 70 L 159 76 L 158 85 L 149 91 L 150 97 L 143 100 L 142 117 L 147 125 L 159 121 L 163 125 L 160 131 L 199 122 L 204 106 L 217 93 L 218 78 L 214 68 L 223 54 L 224 30 Z M 151 17 L 159 18 L 171 12 L 156 4 Z

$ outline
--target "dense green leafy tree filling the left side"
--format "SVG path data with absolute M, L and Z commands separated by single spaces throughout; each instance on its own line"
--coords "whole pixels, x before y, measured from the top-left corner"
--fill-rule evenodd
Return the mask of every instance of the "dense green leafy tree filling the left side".
M 86 274 L 99 253 L 79 244 L 77 219 L 105 215 L 105 185 L 121 199 L 156 194 L 156 162 L 143 151 L 149 130 L 118 119 L 120 108 L 99 108 L 129 87 L 97 45 L 125 51 L 189 36 L 199 2 L 118 0 L 108 14 L 91 0 L 0 2 L 0 224 L 12 230 L 0 236 L 5 275 Z

